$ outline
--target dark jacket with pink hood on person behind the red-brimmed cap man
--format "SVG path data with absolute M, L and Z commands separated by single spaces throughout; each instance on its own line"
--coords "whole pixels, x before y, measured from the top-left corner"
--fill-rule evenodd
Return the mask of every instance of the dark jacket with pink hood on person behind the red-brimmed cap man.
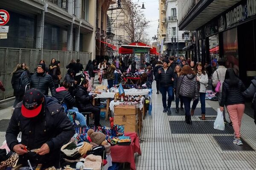
M 73 108 L 76 103 L 76 100 L 71 96 L 70 92 L 67 91 L 67 89 L 64 87 L 56 88 L 56 93 L 53 97 L 55 97 L 59 102 L 61 102 L 65 97 L 63 103 L 67 105 L 67 109 Z

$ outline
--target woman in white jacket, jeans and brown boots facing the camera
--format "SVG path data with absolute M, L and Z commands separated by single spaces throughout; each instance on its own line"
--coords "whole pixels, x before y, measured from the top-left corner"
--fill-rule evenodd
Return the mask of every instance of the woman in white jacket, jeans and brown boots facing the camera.
M 200 90 L 199 90 L 199 98 L 201 103 L 201 114 L 202 120 L 205 120 L 205 95 L 206 95 L 206 85 L 208 84 L 208 75 L 204 70 L 204 65 L 201 62 L 195 66 L 195 74 L 196 74 L 196 81 L 200 83 Z M 192 109 L 191 109 L 191 116 L 194 115 L 195 108 L 199 102 L 199 99 L 193 101 Z

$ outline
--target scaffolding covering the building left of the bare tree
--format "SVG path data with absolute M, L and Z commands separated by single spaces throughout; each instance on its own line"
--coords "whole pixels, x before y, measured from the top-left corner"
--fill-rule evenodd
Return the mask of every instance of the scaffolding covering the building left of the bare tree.
M 117 51 L 115 56 L 118 55 L 118 49 L 121 44 L 127 43 L 125 40 L 125 28 L 120 26 L 125 21 L 125 8 L 123 8 L 124 0 L 116 0 L 115 4 L 111 4 L 108 8 L 107 15 L 107 39 L 111 44 L 116 45 Z M 111 56 L 114 54 L 112 53 Z

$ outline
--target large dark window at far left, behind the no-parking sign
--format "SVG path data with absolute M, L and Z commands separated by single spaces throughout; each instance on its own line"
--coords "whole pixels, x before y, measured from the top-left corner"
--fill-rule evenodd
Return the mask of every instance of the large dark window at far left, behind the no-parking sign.
M 7 39 L 0 40 L 1 47 L 34 48 L 35 18 L 26 17 L 9 11 L 12 19 L 9 20 Z

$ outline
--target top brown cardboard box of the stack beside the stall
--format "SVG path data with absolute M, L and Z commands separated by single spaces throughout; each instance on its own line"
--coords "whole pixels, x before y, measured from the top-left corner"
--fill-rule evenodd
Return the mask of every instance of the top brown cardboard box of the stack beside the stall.
M 136 115 L 139 112 L 138 105 L 116 105 L 114 106 L 115 115 Z

